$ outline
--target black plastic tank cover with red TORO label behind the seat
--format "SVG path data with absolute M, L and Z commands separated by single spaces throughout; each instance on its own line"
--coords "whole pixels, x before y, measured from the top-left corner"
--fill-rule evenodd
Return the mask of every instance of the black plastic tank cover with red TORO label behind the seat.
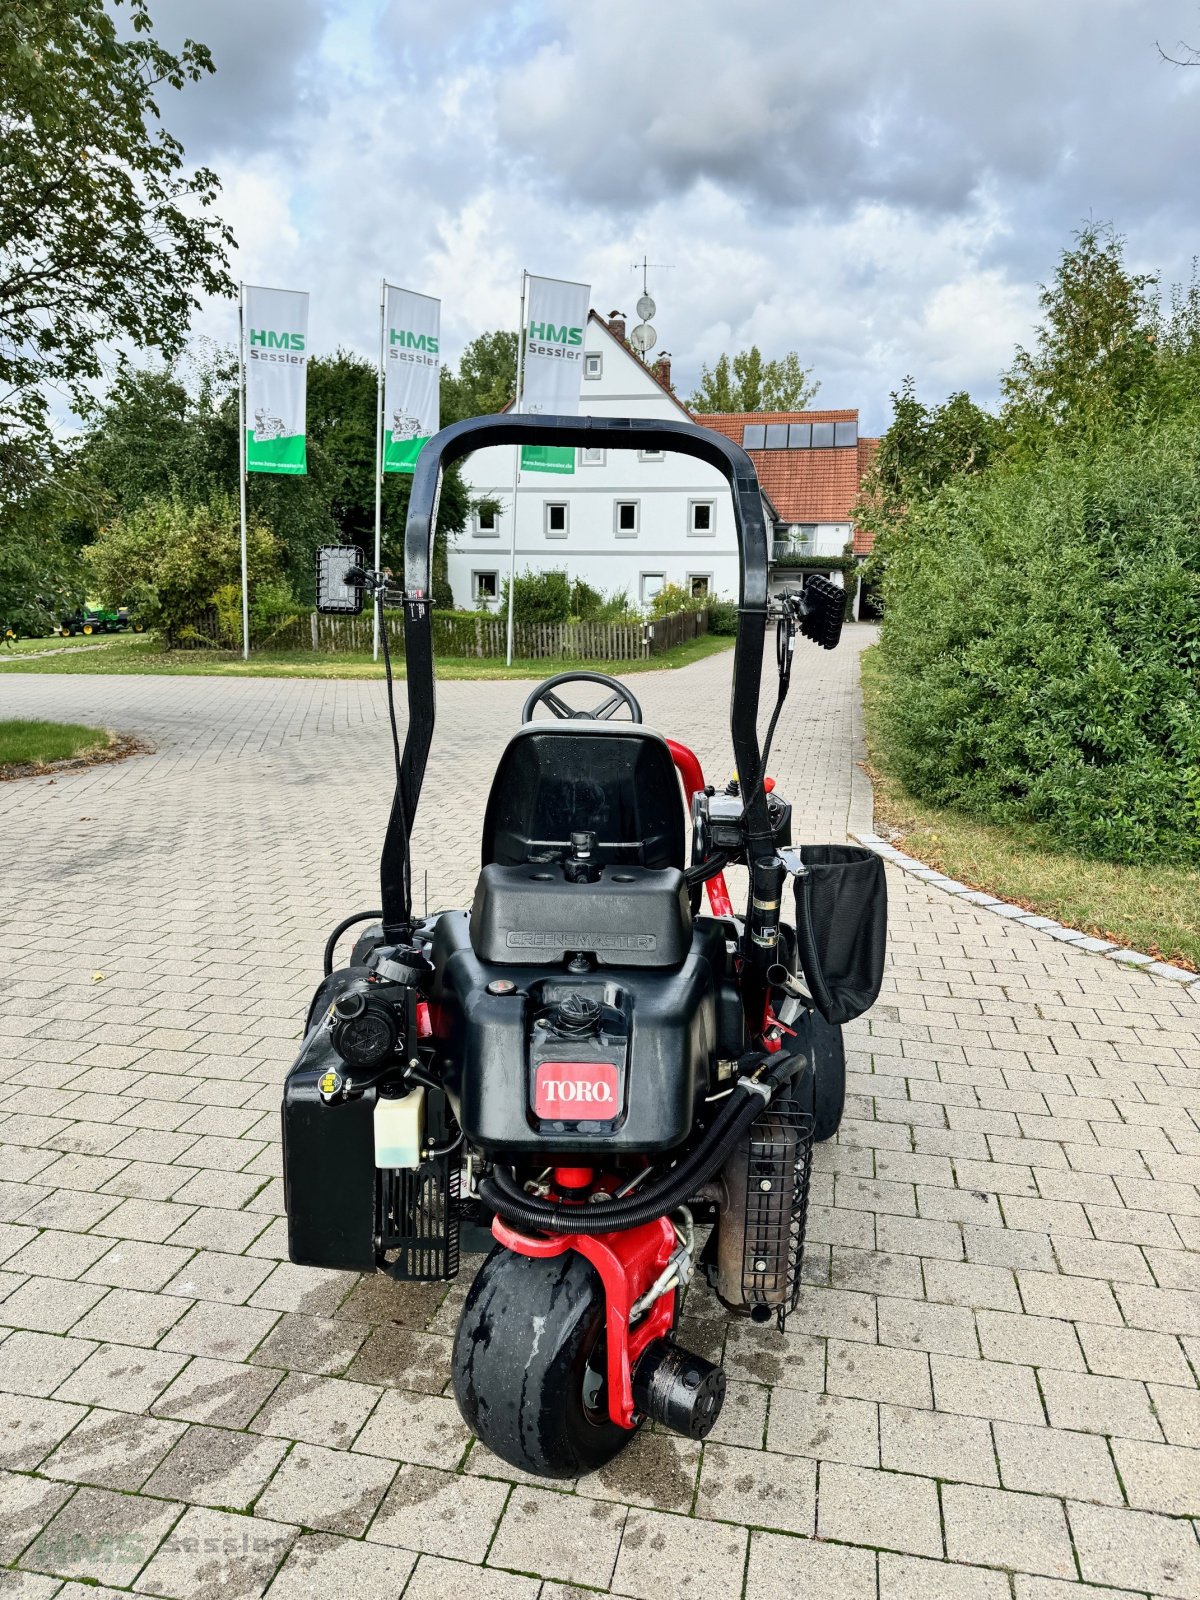
M 715 923 L 696 923 L 672 968 L 568 973 L 562 958 L 485 962 L 470 915 L 443 912 L 430 954 L 443 1082 L 467 1141 L 498 1160 L 670 1150 L 691 1133 L 717 1061 L 742 1048 Z M 590 1026 L 581 1011 L 595 1013 Z

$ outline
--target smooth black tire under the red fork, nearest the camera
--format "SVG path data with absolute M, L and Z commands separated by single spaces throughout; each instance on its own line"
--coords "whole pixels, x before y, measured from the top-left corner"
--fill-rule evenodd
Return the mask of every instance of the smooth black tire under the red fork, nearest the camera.
M 498 1246 L 454 1334 L 464 1422 L 509 1466 L 538 1477 L 602 1467 L 635 1432 L 608 1416 L 603 1334 L 603 1286 L 578 1251 L 538 1261 Z

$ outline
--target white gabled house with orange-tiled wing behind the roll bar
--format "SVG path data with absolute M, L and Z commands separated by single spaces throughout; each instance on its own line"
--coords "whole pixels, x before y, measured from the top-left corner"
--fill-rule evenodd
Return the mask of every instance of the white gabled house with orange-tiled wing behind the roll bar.
M 736 438 L 758 469 L 776 550 L 842 555 L 853 538 L 850 507 L 859 482 L 859 451 L 846 448 L 858 443 L 858 413 L 693 416 L 669 379 L 666 362 L 651 370 L 629 349 L 624 322 L 614 317 L 610 326 L 590 312 L 579 395 L 584 416 L 701 422 Z M 510 446 L 477 451 L 462 464 L 472 499 L 499 506 L 472 515 L 450 549 L 450 582 L 462 610 L 499 606 L 510 558 L 512 474 Z M 734 598 L 730 486 L 715 467 L 690 456 L 576 450 L 571 474 L 522 472 L 515 566 L 518 574 L 560 566 L 606 595 L 624 590 L 632 605 L 646 605 L 667 582 Z M 795 578 L 795 570 L 786 570 L 779 582 Z

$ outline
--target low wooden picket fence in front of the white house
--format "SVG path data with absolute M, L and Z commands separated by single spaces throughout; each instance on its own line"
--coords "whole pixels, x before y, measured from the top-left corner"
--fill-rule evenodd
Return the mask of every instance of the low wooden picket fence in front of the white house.
M 405 648 L 400 613 L 384 618 L 392 650 Z M 371 614 L 298 616 L 277 629 L 259 648 L 358 651 L 371 648 Z M 654 622 L 525 622 L 514 627 L 512 653 L 522 661 L 645 661 L 709 630 L 707 611 L 677 611 Z M 434 651 L 440 656 L 501 659 L 507 654 L 502 616 L 443 616 L 434 613 Z

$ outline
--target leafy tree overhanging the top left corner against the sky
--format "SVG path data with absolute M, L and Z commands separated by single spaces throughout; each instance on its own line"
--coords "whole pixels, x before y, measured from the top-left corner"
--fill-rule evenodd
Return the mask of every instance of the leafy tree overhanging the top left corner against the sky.
M 218 178 L 184 170 L 158 91 L 213 70 L 173 54 L 149 0 L 0 6 L 0 493 L 37 475 L 46 389 L 83 405 L 107 342 L 182 349 L 197 294 L 232 294 Z

